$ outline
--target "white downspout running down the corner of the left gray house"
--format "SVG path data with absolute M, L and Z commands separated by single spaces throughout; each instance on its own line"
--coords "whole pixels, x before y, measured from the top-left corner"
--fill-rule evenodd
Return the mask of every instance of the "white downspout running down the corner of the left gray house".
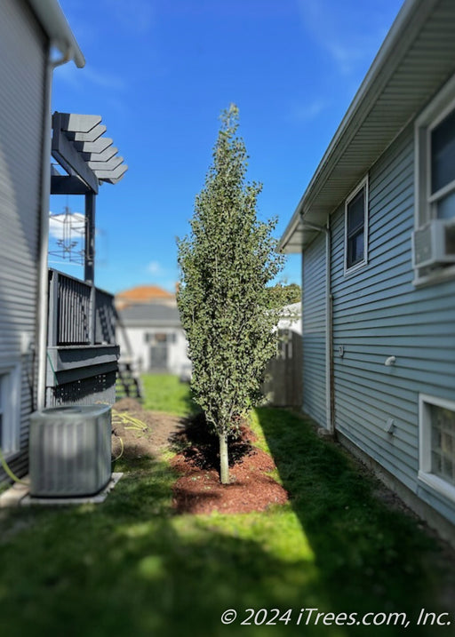
M 40 202 L 40 244 L 38 269 L 38 356 L 36 409 L 42 410 L 46 391 L 47 358 L 47 312 L 48 312 L 48 249 L 49 249 L 49 206 L 51 197 L 51 135 L 52 135 L 52 74 L 54 68 L 66 64 L 73 57 L 68 47 L 60 60 L 52 60 L 52 43 L 49 44 L 46 64 L 44 92 L 43 152 L 41 154 L 41 202 Z

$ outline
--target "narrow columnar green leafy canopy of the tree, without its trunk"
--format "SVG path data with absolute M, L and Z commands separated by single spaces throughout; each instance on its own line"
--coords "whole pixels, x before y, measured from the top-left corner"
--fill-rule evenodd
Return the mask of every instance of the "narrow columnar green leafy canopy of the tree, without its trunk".
M 236 134 L 237 107 L 220 119 L 191 232 L 178 242 L 178 306 L 195 400 L 218 433 L 228 434 L 257 402 L 275 354 L 280 308 L 271 307 L 267 283 L 282 270 L 284 257 L 272 236 L 276 220 L 257 219 L 262 186 L 245 182 L 248 157 Z

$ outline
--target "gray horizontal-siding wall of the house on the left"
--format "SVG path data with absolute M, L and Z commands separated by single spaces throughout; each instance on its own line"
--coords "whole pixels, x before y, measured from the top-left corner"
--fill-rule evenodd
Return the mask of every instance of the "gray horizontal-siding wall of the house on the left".
M 32 355 L 21 354 L 21 343 L 36 339 L 47 44 L 20 0 L 0 4 L 0 46 L 0 367 L 14 364 L 20 373 L 20 454 L 10 465 L 23 474 L 34 370 Z

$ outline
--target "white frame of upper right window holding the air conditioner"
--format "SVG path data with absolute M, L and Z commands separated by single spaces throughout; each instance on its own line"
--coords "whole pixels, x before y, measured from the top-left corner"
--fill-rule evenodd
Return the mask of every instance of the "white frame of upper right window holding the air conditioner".
M 455 110 L 455 75 L 417 117 L 414 124 L 414 229 L 435 219 L 434 203 L 455 191 L 455 180 L 431 195 L 431 133 L 443 119 Z M 455 277 L 455 265 L 427 271 L 415 267 L 414 285 L 439 283 Z

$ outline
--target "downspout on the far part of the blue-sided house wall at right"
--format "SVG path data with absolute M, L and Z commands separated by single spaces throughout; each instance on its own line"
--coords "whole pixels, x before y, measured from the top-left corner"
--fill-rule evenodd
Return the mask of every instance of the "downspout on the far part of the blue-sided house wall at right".
M 334 386 L 333 386 L 333 354 L 332 354 L 332 299 L 331 299 L 331 227 L 330 215 L 326 226 L 316 226 L 303 219 L 300 212 L 300 227 L 325 233 L 325 414 L 326 429 L 333 434 L 334 423 Z M 302 262 L 303 275 L 303 262 Z

